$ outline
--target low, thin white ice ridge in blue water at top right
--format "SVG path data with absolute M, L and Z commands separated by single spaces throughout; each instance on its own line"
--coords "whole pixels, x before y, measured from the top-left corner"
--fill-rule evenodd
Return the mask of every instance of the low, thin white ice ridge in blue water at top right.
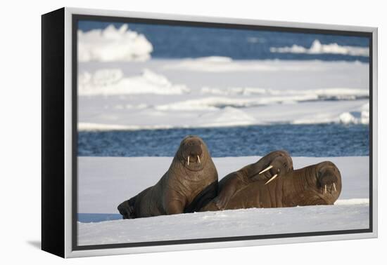
M 357 46 L 340 46 L 337 43 L 322 44 L 318 39 L 313 41 L 310 48 L 293 44 L 291 47 L 270 47 L 272 53 L 307 53 L 307 54 L 342 54 L 351 56 L 369 56 L 369 48 Z

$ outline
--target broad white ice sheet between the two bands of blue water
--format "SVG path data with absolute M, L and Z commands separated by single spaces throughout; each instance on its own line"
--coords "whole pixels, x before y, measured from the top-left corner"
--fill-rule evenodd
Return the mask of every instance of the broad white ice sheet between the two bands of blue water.
M 79 130 L 369 123 L 368 64 L 231 60 L 80 62 Z

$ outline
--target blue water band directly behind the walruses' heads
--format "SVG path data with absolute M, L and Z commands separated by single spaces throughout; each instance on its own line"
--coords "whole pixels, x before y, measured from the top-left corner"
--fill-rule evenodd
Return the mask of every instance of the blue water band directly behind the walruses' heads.
M 368 125 L 283 124 L 78 132 L 78 156 L 175 156 L 186 135 L 200 136 L 212 157 L 264 156 L 277 149 L 291 156 L 369 155 Z

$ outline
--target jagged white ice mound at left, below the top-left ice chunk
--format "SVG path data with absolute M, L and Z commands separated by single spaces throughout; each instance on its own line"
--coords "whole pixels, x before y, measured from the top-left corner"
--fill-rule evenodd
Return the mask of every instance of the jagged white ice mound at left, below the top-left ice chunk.
M 139 76 L 124 76 L 121 69 L 82 72 L 78 77 L 79 95 L 173 95 L 189 92 L 184 85 L 172 84 L 165 76 L 144 69 Z

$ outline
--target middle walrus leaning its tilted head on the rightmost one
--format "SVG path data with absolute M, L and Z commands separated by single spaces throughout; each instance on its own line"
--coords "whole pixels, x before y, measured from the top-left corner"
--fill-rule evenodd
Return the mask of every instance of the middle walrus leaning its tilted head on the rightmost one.
M 260 158 L 255 163 L 231 172 L 219 182 L 219 194 L 213 199 L 213 205 L 218 210 L 224 210 L 231 198 L 236 193 L 245 189 L 253 182 L 260 180 L 272 182 L 273 179 L 281 177 L 293 170 L 293 161 L 286 151 L 272 151 Z

